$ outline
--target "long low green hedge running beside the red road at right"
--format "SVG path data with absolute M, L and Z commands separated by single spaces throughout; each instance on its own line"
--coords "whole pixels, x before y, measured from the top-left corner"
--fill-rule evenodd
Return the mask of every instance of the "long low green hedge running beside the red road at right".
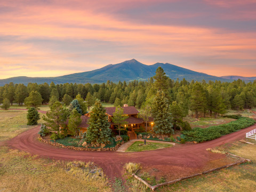
M 216 125 L 210 126 L 205 129 L 200 127 L 196 127 L 191 131 L 182 131 L 184 135 L 184 139 L 186 141 L 196 141 L 196 142 L 203 142 L 203 141 L 210 141 L 213 139 L 217 139 L 222 135 L 226 135 L 237 130 L 244 129 L 249 127 L 256 122 L 248 117 L 238 117 L 236 121 L 223 124 L 223 125 Z

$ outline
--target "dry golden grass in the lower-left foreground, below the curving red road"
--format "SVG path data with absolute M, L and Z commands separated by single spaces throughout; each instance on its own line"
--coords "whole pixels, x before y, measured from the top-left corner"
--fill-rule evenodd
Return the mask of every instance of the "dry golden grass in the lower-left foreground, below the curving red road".
M 101 174 L 101 176 L 100 176 Z M 92 163 L 61 162 L 0 148 L 0 191 L 112 191 Z

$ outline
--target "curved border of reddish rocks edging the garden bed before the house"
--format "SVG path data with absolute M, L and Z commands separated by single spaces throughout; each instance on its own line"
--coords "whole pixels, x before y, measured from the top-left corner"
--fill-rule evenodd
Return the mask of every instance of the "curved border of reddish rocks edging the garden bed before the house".
M 37 139 L 39 141 L 43 141 L 44 143 L 50 144 L 55 147 L 61 147 L 61 148 L 73 149 L 73 150 L 85 150 L 85 151 L 115 151 L 124 143 L 124 141 L 122 141 L 120 144 L 117 144 L 115 147 L 109 147 L 109 148 L 85 148 L 85 147 L 65 146 L 58 142 L 48 141 L 48 140 L 42 138 L 41 135 L 39 135 L 39 134 L 38 134 Z

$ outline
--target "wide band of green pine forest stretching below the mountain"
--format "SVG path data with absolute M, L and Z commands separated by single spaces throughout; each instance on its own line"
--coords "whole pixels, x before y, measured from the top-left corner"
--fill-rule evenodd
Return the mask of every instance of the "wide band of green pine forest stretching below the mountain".
M 60 101 L 68 106 L 79 95 L 78 97 L 86 101 L 89 109 L 95 99 L 114 103 L 115 106 L 128 104 L 141 108 L 153 103 L 157 91 L 163 91 L 170 105 L 179 109 L 179 113 L 183 116 L 186 116 L 190 110 L 196 117 L 206 114 L 216 117 L 225 114 L 228 109 L 242 110 L 256 106 L 256 81 L 245 83 L 238 79 L 231 83 L 220 81 L 207 83 L 204 80 L 188 82 L 185 78 L 179 81 L 167 77 L 161 67 L 148 81 L 57 85 L 52 82 L 50 85 L 29 83 L 27 86 L 9 83 L 0 87 L 0 103 L 8 100 L 11 105 L 27 103 L 28 106 L 36 107 L 33 106 L 33 102 L 44 105 Z

